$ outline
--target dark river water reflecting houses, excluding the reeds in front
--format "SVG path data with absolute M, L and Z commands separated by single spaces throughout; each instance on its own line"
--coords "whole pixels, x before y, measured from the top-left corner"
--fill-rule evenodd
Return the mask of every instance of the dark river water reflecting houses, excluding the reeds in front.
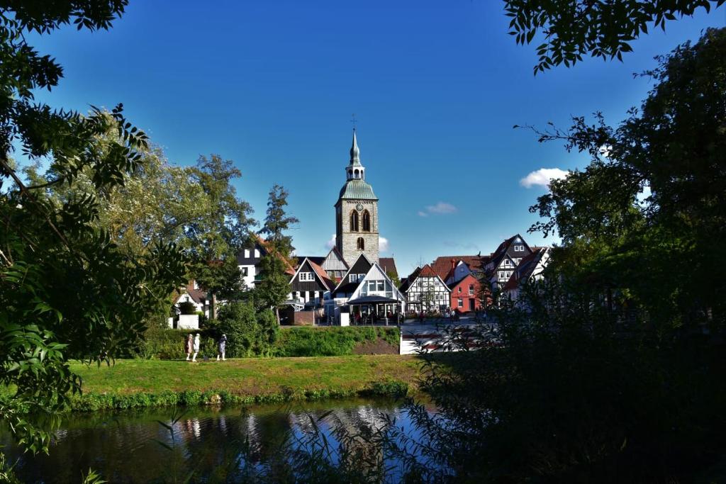
M 335 430 L 354 435 L 395 422 L 415 434 L 400 401 L 354 399 L 287 403 L 268 406 L 148 409 L 69 414 L 55 434 L 50 455 L 31 456 L 12 444 L 0 424 L 0 443 L 15 473 L 28 483 L 78 483 L 89 468 L 109 483 L 238 482 L 243 468 L 264 472 L 269 462 L 305 450 L 312 434 L 329 441 L 335 451 Z M 175 414 L 176 412 L 176 414 Z M 179 417 L 176 423 L 173 420 Z M 171 432 L 163 422 L 171 427 Z M 324 436 L 325 439 L 321 439 Z M 370 442 L 366 446 L 374 446 Z M 380 448 L 367 448 L 380 453 Z M 280 454 L 285 454 L 281 456 Z M 340 454 L 333 452 L 335 464 Z M 396 482 L 399 464 L 382 457 Z

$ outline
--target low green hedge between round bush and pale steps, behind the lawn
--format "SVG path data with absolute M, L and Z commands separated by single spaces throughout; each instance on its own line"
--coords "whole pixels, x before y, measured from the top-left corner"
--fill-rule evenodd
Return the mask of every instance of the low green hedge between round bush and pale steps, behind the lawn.
M 356 345 L 375 342 L 378 338 L 391 345 L 399 344 L 395 327 L 295 327 L 280 332 L 275 356 L 343 356 L 353 353 Z

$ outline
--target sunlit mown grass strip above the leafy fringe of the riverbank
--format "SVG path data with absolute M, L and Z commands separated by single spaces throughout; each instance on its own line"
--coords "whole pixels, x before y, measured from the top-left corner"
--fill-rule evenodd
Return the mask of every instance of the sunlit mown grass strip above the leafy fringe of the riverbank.
M 240 358 L 224 362 L 118 360 L 113 366 L 71 369 L 83 379 L 83 393 L 132 395 L 184 390 L 226 390 L 260 396 L 315 390 L 357 392 L 375 383 L 403 382 L 415 387 L 416 356 L 354 355 L 311 358 Z

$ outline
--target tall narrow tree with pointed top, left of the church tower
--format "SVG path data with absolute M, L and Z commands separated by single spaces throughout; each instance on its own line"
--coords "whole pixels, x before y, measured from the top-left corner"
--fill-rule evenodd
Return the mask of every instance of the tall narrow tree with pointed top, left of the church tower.
M 267 308 L 274 308 L 277 323 L 280 324 L 280 305 L 290 293 L 290 276 L 287 271 L 293 267 L 290 256 L 293 251 L 292 237 L 285 235 L 298 219 L 287 216 L 287 190 L 280 185 L 272 186 L 267 202 L 267 216 L 260 234 L 266 234 L 267 254 L 260 261 L 261 281 L 256 287 L 256 298 Z

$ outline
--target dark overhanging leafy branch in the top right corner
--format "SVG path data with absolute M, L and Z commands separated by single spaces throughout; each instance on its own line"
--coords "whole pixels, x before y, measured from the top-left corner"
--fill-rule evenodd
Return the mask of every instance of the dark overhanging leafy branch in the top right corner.
M 584 55 L 606 60 L 631 52 L 630 43 L 648 28 L 666 28 L 666 20 L 693 15 L 698 8 L 709 12 L 726 0 L 505 0 L 511 17 L 510 35 L 517 44 L 530 44 L 537 33 L 539 62 L 534 73 L 552 66 L 574 65 Z

